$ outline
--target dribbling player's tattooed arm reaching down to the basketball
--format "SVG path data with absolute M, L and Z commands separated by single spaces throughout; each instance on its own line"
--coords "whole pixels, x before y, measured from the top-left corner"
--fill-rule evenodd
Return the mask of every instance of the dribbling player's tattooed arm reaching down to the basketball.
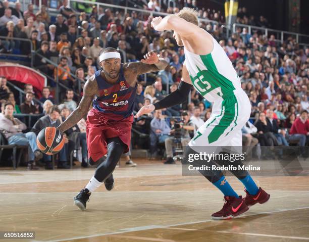
M 71 128 L 81 120 L 89 110 L 91 102 L 94 98 L 95 92 L 97 90 L 97 83 L 94 76 L 90 77 L 84 86 L 83 97 L 78 105 L 78 107 L 67 117 L 67 119 L 60 124 L 57 129 L 64 132 L 67 129 Z

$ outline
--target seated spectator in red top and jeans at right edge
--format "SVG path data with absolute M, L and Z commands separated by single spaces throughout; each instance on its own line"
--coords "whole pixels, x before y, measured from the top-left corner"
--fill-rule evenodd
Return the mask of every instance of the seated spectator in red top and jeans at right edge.
M 298 140 L 298 146 L 305 146 L 309 137 L 308 112 L 303 110 L 292 124 L 289 141 Z

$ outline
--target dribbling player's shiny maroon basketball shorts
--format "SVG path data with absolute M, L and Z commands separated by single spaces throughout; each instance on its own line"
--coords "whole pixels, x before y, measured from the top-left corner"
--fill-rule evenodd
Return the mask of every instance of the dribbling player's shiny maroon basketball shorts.
M 94 162 L 107 154 L 107 140 L 119 137 L 129 151 L 133 115 L 119 121 L 109 119 L 108 114 L 91 109 L 86 121 L 88 158 Z

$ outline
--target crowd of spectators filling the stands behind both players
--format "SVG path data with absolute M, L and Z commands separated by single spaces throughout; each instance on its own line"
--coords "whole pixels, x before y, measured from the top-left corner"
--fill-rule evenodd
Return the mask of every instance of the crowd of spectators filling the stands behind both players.
M 146 8 L 160 11 L 157 4 L 158 1 L 150 0 Z M 185 5 L 196 8 L 196 1 L 187 0 Z M 56 21 L 52 22 L 45 6 L 36 13 L 32 4 L 28 5 L 24 13 L 19 3 L 13 8 L 9 7 L 8 1 L 3 1 L 3 6 L 0 11 L 0 35 L 7 38 L 1 41 L 0 52 L 12 52 L 17 48 L 27 55 L 30 53 L 29 43 L 14 41 L 10 37 L 30 39 L 33 49 L 39 54 L 34 57 L 34 68 L 50 77 L 48 86 L 39 95 L 34 92 L 32 85 L 25 85 L 23 103 L 15 102 L 14 93 L 7 86 L 7 79 L 0 78 L 0 100 L 4 104 L 2 112 L 10 120 L 11 126 L 19 124 L 15 124 L 6 114 L 7 109 L 10 109 L 8 112 L 13 109 L 16 114 L 44 115 L 29 129 L 36 134 L 44 127 L 57 127 L 77 107 L 82 96 L 79 86 L 82 88 L 87 78 L 99 69 L 97 58 L 105 47 L 120 49 L 122 61 L 139 61 L 148 51 L 153 51 L 169 63 L 165 70 L 147 74 L 147 78 L 139 77 L 134 112 L 143 105 L 162 100 L 169 92 L 177 89 L 185 59 L 183 47 L 177 46 L 171 31 L 153 30 L 150 26 L 152 17 L 149 15 L 134 11 L 124 14 L 110 8 L 97 9 L 96 5 L 91 6 L 90 13 L 80 13 L 67 6 L 64 0 Z M 177 13 L 182 7 L 175 6 L 166 11 Z M 224 22 L 218 12 L 196 10 L 200 18 Z M 243 20 L 245 17 L 245 10 L 240 9 L 239 22 L 247 21 Z M 242 129 L 243 144 L 289 146 L 294 143 L 307 146 L 309 47 L 299 46 L 292 37 L 280 43 L 274 35 L 265 36 L 258 31 L 249 34 L 246 28 L 237 28 L 235 33 L 226 37 L 223 29 L 216 24 L 199 24 L 223 47 L 237 71 L 241 87 L 249 96 L 252 112 L 250 120 Z M 262 19 L 257 24 L 267 26 L 267 21 Z M 46 62 L 46 59 L 58 67 Z M 55 103 L 56 81 L 68 88 L 61 89 L 63 95 L 59 103 Z M 40 102 L 34 100 L 39 97 Z M 181 144 L 186 146 L 196 130 L 210 118 L 212 104 L 204 100 L 195 89 L 192 89 L 189 100 L 135 120 L 133 128 L 137 132 L 132 136 L 132 148 L 149 149 L 153 154 L 158 150 L 158 145 L 163 144 L 167 151 L 167 164 L 173 163 L 171 137 L 175 132 L 174 125 L 180 124 Z M 8 101 L 11 106 L 6 106 Z M 82 165 L 87 166 L 84 122 L 82 120 L 66 131 L 66 148 L 60 154 L 59 168 L 67 167 L 72 150 L 78 147 L 82 150 Z M 0 129 L 3 130 L 3 127 Z M 22 129 L 18 130 L 20 132 Z M 146 135 L 139 136 L 137 133 Z M 6 137 L 10 141 L 10 135 Z M 50 157 L 45 155 L 43 159 L 50 161 Z

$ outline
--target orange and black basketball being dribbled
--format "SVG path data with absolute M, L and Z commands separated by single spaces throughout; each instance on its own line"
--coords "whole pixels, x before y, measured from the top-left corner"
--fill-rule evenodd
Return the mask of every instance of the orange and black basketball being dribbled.
M 42 129 L 36 138 L 37 147 L 46 155 L 54 155 L 60 152 L 64 142 L 63 133 L 55 127 Z

